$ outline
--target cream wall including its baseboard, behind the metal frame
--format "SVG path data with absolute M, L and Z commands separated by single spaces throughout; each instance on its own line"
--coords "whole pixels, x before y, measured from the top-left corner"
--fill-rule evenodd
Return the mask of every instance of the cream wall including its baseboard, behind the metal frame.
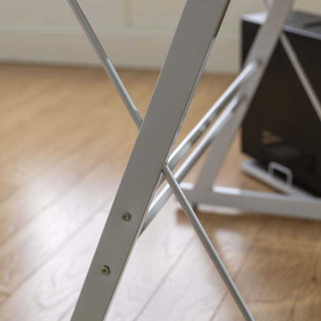
M 161 68 L 185 0 L 79 0 L 115 66 Z M 321 15 L 321 0 L 296 8 Z M 239 25 L 261 0 L 231 0 L 206 70 L 239 68 Z M 67 0 L 1 0 L 0 61 L 99 65 Z

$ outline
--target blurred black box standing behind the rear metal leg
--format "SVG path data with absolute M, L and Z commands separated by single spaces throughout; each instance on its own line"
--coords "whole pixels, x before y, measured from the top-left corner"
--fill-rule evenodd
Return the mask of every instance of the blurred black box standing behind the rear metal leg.
M 242 17 L 242 62 L 264 20 Z M 283 31 L 321 100 L 321 17 L 293 11 Z M 242 151 L 290 168 L 294 182 L 321 193 L 321 121 L 280 41 L 243 120 Z

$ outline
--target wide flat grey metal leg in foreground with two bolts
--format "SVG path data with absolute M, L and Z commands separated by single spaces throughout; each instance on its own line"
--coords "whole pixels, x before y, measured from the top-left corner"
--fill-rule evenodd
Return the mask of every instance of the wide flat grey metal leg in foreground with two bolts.
M 102 321 L 108 311 L 228 4 L 185 4 L 72 321 Z M 123 212 L 129 220 L 122 219 Z M 109 274 L 101 273 L 103 266 Z

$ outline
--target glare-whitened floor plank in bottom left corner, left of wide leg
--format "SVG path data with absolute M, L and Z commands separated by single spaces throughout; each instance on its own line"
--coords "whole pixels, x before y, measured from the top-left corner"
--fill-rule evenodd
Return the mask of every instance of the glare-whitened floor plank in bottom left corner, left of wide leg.
M 79 295 L 106 218 L 107 213 L 99 213 L 87 221 L 76 238 L 9 296 L 0 306 L 1 321 L 61 319 Z

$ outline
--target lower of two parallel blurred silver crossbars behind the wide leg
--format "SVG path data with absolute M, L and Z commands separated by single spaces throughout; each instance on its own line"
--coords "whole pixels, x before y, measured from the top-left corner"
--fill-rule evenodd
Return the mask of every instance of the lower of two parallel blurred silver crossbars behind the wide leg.
M 209 144 L 219 135 L 221 130 L 224 128 L 225 124 L 232 118 L 237 107 L 240 105 L 242 98 L 239 96 L 234 97 L 234 99 L 227 106 L 222 115 L 215 121 L 212 127 L 208 130 L 205 136 L 201 139 L 200 143 L 195 147 L 192 153 L 187 157 L 183 164 L 175 173 L 175 179 L 180 183 L 186 174 L 190 171 L 193 165 L 199 160 L 201 155 L 205 152 Z M 172 191 L 168 184 L 166 184 L 161 192 L 157 195 L 155 200 L 152 202 L 146 219 L 144 221 L 141 232 L 143 232 L 148 224 L 153 220 L 158 211 L 164 205 L 164 203 L 171 196 Z

